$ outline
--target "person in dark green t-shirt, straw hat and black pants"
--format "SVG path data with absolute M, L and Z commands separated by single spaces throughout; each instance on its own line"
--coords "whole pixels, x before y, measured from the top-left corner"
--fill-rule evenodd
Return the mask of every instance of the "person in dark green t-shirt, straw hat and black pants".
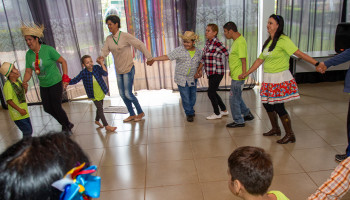
M 44 26 L 23 25 L 22 35 L 26 40 L 29 50 L 26 53 L 26 71 L 23 78 L 23 86 L 28 87 L 28 81 L 33 71 L 39 79 L 40 96 L 45 112 L 53 116 L 61 125 L 62 131 L 67 135 L 72 134 L 73 124 L 70 123 L 66 112 L 62 108 L 63 87 L 67 87 L 70 78 L 66 60 L 49 45 L 43 44 Z M 61 75 L 56 63 L 62 65 Z

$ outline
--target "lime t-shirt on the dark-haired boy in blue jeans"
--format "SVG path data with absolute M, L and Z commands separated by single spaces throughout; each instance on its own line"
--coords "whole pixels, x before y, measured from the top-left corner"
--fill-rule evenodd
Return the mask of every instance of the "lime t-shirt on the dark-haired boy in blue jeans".
M 231 71 L 231 78 L 233 80 L 239 80 L 238 76 L 242 74 L 242 60 L 241 58 L 247 58 L 247 42 L 244 37 L 239 36 L 231 46 L 231 52 L 228 57 L 228 62 Z M 246 69 L 248 71 L 248 60 L 246 59 Z

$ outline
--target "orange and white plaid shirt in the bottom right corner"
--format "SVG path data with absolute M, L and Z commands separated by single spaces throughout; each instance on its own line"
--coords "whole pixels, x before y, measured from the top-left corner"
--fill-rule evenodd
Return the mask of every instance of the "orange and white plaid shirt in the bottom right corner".
M 343 160 L 332 172 L 331 177 L 312 194 L 308 200 L 341 199 L 350 189 L 350 157 Z

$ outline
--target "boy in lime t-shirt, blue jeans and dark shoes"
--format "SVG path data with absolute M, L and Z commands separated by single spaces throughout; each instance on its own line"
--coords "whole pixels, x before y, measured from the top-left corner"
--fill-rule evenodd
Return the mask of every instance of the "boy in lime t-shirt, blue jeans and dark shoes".
M 249 108 L 247 108 L 242 98 L 244 79 L 240 80 L 238 78 L 238 75 L 247 70 L 247 42 L 237 31 L 237 26 L 234 22 L 227 22 L 224 25 L 224 34 L 227 39 L 234 40 L 229 55 L 229 66 L 232 78 L 229 101 L 234 122 L 227 124 L 226 127 L 244 127 L 245 121 L 254 119 L 254 116 Z

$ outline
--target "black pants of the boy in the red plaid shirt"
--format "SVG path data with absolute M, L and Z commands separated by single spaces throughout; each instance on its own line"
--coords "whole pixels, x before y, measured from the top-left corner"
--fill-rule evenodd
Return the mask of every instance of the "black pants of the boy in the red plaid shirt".
M 226 110 L 226 106 L 224 102 L 222 102 L 221 97 L 216 93 L 216 91 L 219 89 L 220 82 L 224 75 L 219 74 L 213 74 L 208 76 L 209 79 L 209 88 L 208 88 L 208 97 L 211 101 L 211 104 L 214 109 L 214 113 L 216 115 L 220 114 L 219 107 L 222 111 Z

